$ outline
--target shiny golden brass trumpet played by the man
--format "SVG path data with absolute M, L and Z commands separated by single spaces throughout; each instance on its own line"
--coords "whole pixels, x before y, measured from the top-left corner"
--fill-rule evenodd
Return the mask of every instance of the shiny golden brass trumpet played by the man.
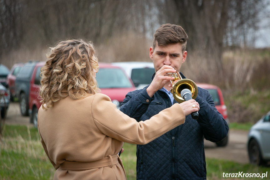
M 181 103 L 184 102 L 185 99 L 181 97 L 181 91 L 183 89 L 189 89 L 191 91 L 192 99 L 195 99 L 198 95 L 198 87 L 192 80 L 182 79 L 179 72 L 176 73 L 168 73 L 168 76 L 174 77 L 174 80 L 171 80 L 172 89 L 171 93 L 174 99 Z M 178 80 L 176 83 L 175 81 Z

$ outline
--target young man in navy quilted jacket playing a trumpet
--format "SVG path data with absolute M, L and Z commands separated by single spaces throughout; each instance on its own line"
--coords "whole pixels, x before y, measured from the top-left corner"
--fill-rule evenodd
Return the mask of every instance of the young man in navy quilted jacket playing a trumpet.
M 120 107 L 122 112 L 137 121 L 145 121 L 178 103 L 171 93 L 170 80 L 174 78 L 167 74 L 180 72 L 186 61 L 187 39 L 181 26 L 164 24 L 156 30 L 149 53 L 155 67 L 152 82 L 141 90 L 129 92 Z M 137 180 L 206 179 L 204 138 L 221 141 L 229 128 L 207 90 L 198 87 L 195 100 L 200 107 L 198 119 L 188 115 L 184 124 L 146 145 L 137 145 Z

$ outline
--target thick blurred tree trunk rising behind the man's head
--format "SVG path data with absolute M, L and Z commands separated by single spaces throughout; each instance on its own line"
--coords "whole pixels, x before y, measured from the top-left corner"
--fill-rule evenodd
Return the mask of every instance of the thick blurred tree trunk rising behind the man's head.
M 187 49 L 206 57 L 222 70 L 223 36 L 231 0 L 166 0 L 167 22 L 181 25 L 189 40 Z

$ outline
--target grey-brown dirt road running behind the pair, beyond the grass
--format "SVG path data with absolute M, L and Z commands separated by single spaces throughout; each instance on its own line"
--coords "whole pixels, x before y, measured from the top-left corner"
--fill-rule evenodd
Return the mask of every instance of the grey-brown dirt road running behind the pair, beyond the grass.
M 10 104 L 5 123 L 33 126 L 29 116 L 21 115 L 18 102 Z M 248 131 L 229 130 L 229 142 L 226 147 L 217 147 L 215 143 L 205 140 L 206 157 L 248 163 L 247 134 Z

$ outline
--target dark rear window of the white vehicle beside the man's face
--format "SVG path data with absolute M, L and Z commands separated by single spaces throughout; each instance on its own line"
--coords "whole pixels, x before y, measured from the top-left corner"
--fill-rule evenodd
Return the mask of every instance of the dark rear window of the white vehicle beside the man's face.
M 154 68 L 132 69 L 131 80 L 139 84 L 150 84 L 152 82 L 152 75 L 154 73 Z

